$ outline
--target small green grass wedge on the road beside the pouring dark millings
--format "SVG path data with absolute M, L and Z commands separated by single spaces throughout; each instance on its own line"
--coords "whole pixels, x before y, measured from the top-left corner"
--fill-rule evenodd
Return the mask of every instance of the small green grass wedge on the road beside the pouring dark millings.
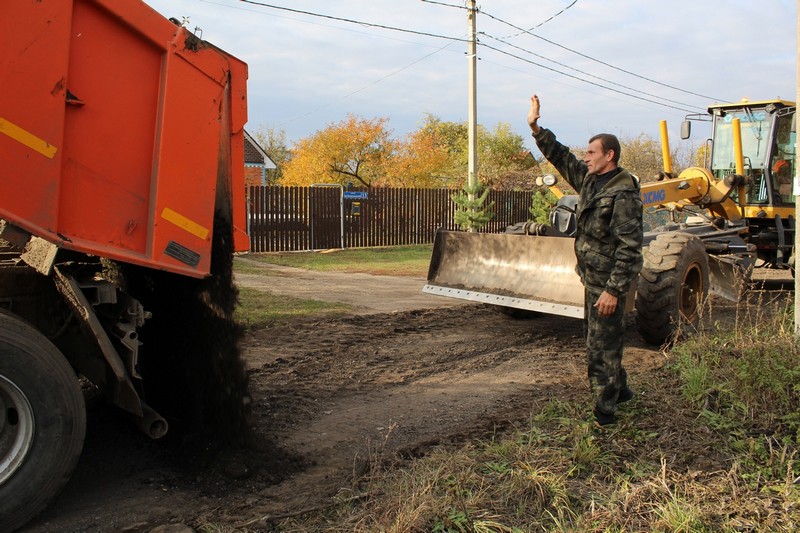
M 246 329 L 253 330 L 273 326 L 290 318 L 339 315 L 351 310 L 352 307 L 341 303 L 304 300 L 240 287 L 239 306 L 234 318 Z

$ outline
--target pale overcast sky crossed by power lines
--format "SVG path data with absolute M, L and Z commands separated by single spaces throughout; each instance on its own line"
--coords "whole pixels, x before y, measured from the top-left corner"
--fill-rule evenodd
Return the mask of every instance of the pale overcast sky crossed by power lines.
M 145 1 L 248 63 L 251 132 L 291 143 L 354 114 L 399 138 L 426 114 L 468 118 L 464 0 Z M 794 0 L 478 6 L 478 121 L 511 124 L 530 148 L 533 92 L 540 124 L 579 147 L 601 131 L 657 138 L 662 119 L 677 143 L 684 116 L 715 101 L 795 99 Z

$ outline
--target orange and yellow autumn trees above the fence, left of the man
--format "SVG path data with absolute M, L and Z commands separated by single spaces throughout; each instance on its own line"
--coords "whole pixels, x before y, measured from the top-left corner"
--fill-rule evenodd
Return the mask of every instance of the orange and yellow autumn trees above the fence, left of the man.
M 460 188 L 467 175 L 467 126 L 429 115 L 397 140 L 388 119 L 355 115 L 301 139 L 291 150 L 280 184 L 354 187 Z M 480 181 L 496 189 L 530 188 L 536 160 L 508 125 L 479 131 Z M 509 186 L 507 186 L 509 185 Z

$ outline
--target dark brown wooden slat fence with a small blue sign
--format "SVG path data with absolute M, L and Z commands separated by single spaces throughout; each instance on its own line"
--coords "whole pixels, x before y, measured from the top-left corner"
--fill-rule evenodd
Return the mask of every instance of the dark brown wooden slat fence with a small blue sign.
M 347 189 L 339 186 L 250 187 L 253 252 L 284 252 L 432 243 L 438 228 L 456 229 L 450 189 Z M 501 232 L 529 218 L 530 191 L 490 191 Z

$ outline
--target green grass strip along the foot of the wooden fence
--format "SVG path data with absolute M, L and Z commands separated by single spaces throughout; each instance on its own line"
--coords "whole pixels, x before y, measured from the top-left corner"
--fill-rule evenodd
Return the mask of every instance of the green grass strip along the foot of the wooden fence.
M 247 254 L 244 257 L 273 265 L 326 272 L 363 272 L 390 276 L 428 275 L 433 245 L 346 248 L 322 252 Z

